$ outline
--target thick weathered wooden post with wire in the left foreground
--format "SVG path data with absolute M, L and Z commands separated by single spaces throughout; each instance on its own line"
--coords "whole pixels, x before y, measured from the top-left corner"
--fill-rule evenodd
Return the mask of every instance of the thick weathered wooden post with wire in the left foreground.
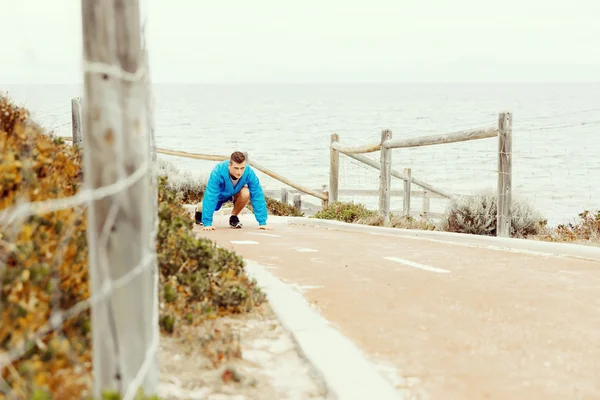
M 121 184 L 87 203 L 94 398 L 156 394 L 154 199 L 138 0 L 81 2 L 84 187 Z M 137 270 L 139 268 L 139 271 Z M 120 287 L 112 283 L 132 279 Z M 142 370 L 144 367 L 144 370 Z M 132 396 L 133 397 L 133 396 Z M 130 398 L 132 398 L 130 397 Z

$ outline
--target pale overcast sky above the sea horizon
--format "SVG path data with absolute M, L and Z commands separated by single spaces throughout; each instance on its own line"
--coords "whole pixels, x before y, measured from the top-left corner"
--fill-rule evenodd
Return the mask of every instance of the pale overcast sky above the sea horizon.
M 598 0 L 142 0 L 155 82 L 600 81 Z M 80 82 L 80 0 L 0 0 L 0 83 Z

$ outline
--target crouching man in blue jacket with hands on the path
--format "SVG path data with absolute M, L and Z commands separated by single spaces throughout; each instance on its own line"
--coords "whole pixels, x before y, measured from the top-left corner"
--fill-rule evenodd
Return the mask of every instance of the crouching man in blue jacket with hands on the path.
M 231 201 L 233 211 L 229 217 L 229 225 L 232 228 L 241 228 L 238 214 L 246 207 L 248 200 L 252 203 L 259 229 L 271 229 L 267 227 L 267 202 L 260 181 L 254 170 L 246 165 L 244 153 L 236 151 L 231 154 L 229 160 L 220 162 L 212 170 L 202 203 L 196 208 L 195 222 L 203 226 L 203 231 L 215 230 L 214 212 L 218 211 L 223 203 Z

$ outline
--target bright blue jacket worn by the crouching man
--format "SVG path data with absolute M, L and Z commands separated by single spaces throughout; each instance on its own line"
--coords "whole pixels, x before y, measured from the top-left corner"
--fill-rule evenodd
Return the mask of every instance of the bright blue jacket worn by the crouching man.
M 244 185 L 248 185 L 250 191 L 250 202 L 254 210 L 254 217 L 259 225 L 267 224 L 267 202 L 260 181 L 249 165 L 246 165 L 244 173 L 237 185 L 233 187 L 229 176 L 229 160 L 218 163 L 210 173 L 208 183 L 202 199 L 202 223 L 211 226 L 213 214 L 221 207 L 221 204 L 231 200 Z

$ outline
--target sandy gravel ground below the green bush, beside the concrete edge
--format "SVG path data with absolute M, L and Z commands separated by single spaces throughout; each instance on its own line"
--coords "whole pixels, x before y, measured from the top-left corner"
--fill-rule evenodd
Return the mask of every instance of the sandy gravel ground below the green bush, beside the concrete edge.
M 221 362 L 218 354 L 225 354 Z M 159 395 L 175 399 L 328 399 L 320 377 L 265 304 L 163 336 Z

